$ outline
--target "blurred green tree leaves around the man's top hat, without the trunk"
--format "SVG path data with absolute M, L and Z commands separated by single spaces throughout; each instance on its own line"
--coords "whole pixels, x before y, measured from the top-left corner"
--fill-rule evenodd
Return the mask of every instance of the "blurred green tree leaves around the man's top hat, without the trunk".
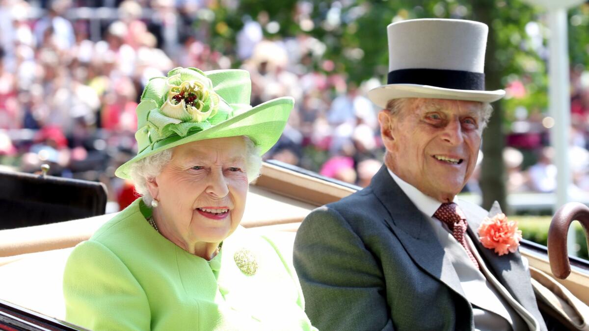
M 385 80 L 388 72 L 386 26 L 393 21 L 411 18 L 459 18 L 485 21 L 489 18 L 489 37 L 495 38 L 497 51 L 487 55 L 489 65 L 501 74 L 501 87 L 522 82 L 523 97 L 505 98 L 505 124 L 514 120 L 515 108 L 529 112 L 546 112 L 548 107 L 547 27 L 545 11 L 521 0 L 309 0 L 313 11 L 310 31 L 300 27 L 297 0 L 243 0 L 237 8 L 227 8 L 218 0 L 213 8 L 211 44 L 221 52 L 232 50 L 237 32 L 246 16 L 260 21 L 274 21 L 280 26 L 275 34 L 264 29 L 267 38 L 290 38 L 305 33 L 326 45 L 325 54 L 314 58 L 313 68 L 333 61 L 333 72 L 345 74 L 360 83 L 372 77 Z M 339 13 L 339 14 L 338 14 Z M 572 64 L 589 60 L 589 5 L 571 9 L 570 51 Z M 336 16 L 335 21 L 332 20 Z M 334 23 L 335 22 L 335 23 Z M 399 45 L 402 47 L 403 45 Z M 234 62 L 239 65 L 239 62 Z

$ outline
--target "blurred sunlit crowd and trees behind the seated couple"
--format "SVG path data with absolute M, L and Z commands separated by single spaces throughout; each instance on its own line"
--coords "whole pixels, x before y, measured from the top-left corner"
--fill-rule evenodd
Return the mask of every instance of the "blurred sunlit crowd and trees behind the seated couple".
M 484 138 L 499 153 L 479 160 L 494 167 L 478 168 L 464 196 L 478 203 L 485 194 L 505 197 L 524 236 L 545 244 L 558 185 L 545 11 L 521 1 L 475 2 L 3 0 L 0 167 L 34 173 L 48 163 L 54 176 L 101 181 L 107 211 L 120 210 L 135 196 L 114 170 L 136 153 L 134 110 L 145 83 L 177 66 L 243 68 L 252 77 L 252 105 L 296 100 L 265 158 L 366 186 L 382 164 L 379 110 L 365 95 L 388 73 L 386 25 L 475 19 L 489 24 L 492 39 L 487 87 L 504 88 L 507 97 L 494 105 Z M 589 203 L 589 5 L 568 12 L 568 33 L 570 196 Z M 487 186 L 479 182 L 484 174 Z

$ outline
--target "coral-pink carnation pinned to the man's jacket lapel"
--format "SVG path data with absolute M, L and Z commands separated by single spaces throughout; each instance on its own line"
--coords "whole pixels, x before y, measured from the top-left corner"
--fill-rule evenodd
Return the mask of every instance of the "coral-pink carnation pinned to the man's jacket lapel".
M 482 246 L 495 250 L 499 256 L 517 251 L 521 240 L 521 230 L 517 229 L 517 221 L 509 221 L 503 213 L 490 219 L 485 217 L 478 233 Z

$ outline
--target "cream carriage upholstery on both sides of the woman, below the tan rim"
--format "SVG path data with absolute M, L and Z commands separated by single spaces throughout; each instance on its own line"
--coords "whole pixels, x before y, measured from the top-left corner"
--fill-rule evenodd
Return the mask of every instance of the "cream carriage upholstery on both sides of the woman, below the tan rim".
M 241 225 L 269 236 L 292 262 L 294 233 L 315 207 L 252 186 Z M 0 299 L 64 319 L 62 277 L 71 247 L 113 216 L 0 231 Z

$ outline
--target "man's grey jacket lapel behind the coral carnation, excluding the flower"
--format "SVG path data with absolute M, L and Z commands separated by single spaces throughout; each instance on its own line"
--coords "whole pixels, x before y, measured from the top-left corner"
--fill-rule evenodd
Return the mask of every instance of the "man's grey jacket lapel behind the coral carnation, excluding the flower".
M 481 257 L 485 260 L 488 269 L 505 286 L 515 300 L 524 307 L 530 307 L 530 303 L 535 303 L 535 298 L 531 286 L 529 289 L 528 286 L 522 286 L 522 284 L 530 284 L 530 273 L 521 262 L 519 250 L 515 253 L 499 256 L 494 250 L 482 246 L 481 241 L 478 240 L 477 230 L 481 226 L 482 220 L 485 217 L 493 217 L 501 213 L 501 207 L 499 207 L 497 201 L 495 201 L 488 214 L 487 211 L 478 206 L 470 206 L 469 204 L 462 203 L 460 207 L 464 211 L 466 220 L 468 221 L 468 235 L 471 237 Z M 523 280 L 526 281 L 522 282 Z

